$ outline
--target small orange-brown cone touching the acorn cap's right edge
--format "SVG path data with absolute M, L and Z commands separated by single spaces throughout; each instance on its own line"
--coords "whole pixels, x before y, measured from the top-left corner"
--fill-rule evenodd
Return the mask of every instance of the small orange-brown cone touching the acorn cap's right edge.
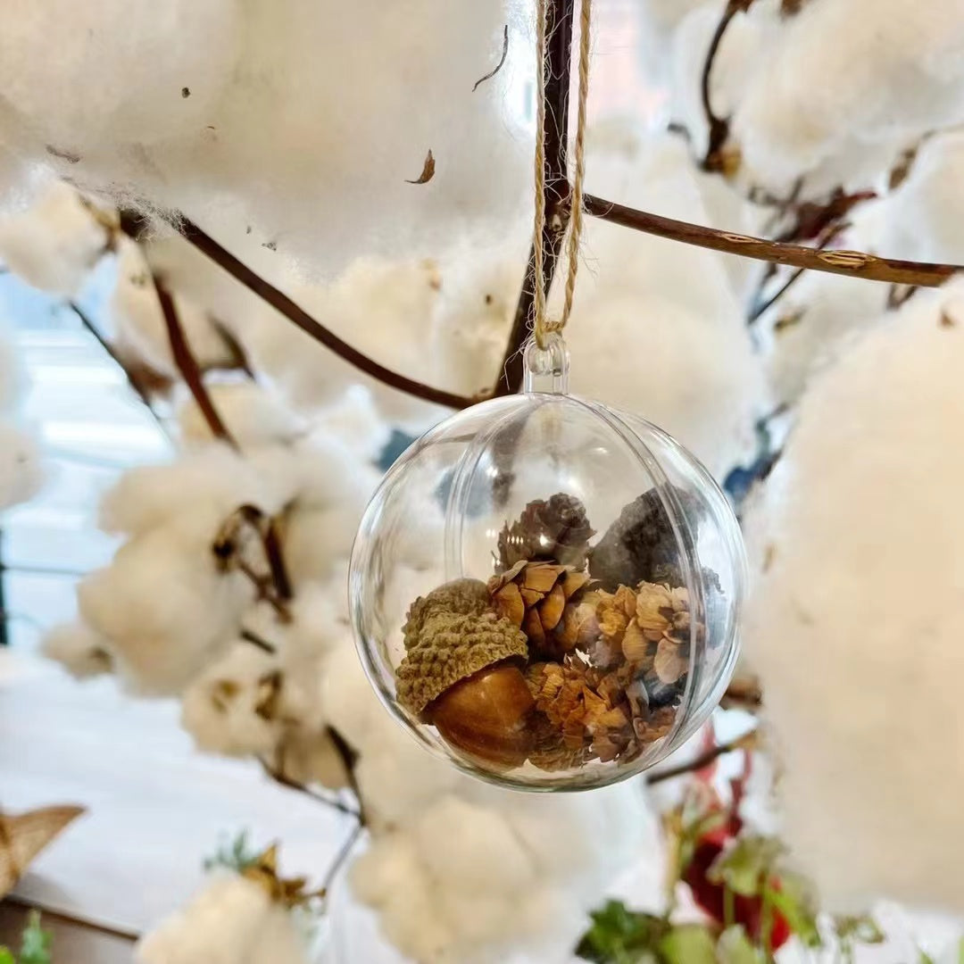
M 549 634 L 562 622 L 566 604 L 589 581 L 572 566 L 517 562 L 489 580 L 495 611 L 521 627 L 536 652 L 551 652 Z

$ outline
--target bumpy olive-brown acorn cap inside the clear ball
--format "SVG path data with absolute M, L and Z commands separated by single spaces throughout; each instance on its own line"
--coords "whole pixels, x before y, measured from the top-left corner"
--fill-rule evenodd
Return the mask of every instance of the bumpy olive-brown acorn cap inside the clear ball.
M 406 655 L 395 671 L 396 692 L 417 716 L 460 680 L 527 656 L 522 629 L 495 612 L 478 579 L 456 579 L 416 599 L 402 631 Z

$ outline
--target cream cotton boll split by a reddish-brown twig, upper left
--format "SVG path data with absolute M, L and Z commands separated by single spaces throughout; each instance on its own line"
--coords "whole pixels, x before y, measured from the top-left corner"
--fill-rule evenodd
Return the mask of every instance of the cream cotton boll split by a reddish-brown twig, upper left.
M 166 374 L 177 375 L 171 338 L 147 260 L 129 238 L 120 239 L 118 253 L 117 286 L 110 305 L 115 330 L 146 362 Z M 172 296 L 184 338 L 201 369 L 236 368 L 236 349 L 216 320 L 176 291 Z

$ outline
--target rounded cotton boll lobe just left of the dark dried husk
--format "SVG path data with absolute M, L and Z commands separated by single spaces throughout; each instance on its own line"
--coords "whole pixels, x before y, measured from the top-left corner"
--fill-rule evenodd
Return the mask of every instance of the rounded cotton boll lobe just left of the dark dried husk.
M 218 569 L 215 520 L 173 521 L 137 536 L 78 586 L 83 619 L 110 641 L 121 675 L 142 692 L 190 683 L 251 603 L 245 576 Z

